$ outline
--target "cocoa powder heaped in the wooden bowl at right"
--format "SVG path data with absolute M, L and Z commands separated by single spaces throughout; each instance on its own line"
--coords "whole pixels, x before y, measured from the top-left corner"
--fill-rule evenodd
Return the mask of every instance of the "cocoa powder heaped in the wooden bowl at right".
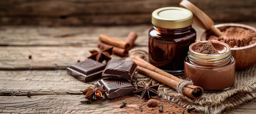
M 208 40 L 225 42 L 230 47 L 244 47 L 256 42 L 256 32 L 241 27 L 229 27 L 222 31 L 225 36 L 208 36 Z M 207 38 L 206 38 L 207 39 Z

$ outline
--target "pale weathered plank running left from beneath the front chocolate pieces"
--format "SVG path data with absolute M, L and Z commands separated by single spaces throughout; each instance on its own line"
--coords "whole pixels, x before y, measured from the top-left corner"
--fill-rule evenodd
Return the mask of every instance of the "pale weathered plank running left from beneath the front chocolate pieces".
M 96 85 L 100 77 L 83 83 L 66 70 L 0 71 L 0 95 L 67 95 L 82 94 Z

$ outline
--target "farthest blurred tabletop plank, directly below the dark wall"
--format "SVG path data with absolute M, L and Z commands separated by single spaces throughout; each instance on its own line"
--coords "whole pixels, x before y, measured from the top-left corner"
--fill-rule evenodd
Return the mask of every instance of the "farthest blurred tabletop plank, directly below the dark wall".
M 99 34 L 125 40 L 130 31 L 138 34 L 136 46 L 147 46 L 152 25 L 117 27 L 0 27 L 0 46 L 96 47 Z

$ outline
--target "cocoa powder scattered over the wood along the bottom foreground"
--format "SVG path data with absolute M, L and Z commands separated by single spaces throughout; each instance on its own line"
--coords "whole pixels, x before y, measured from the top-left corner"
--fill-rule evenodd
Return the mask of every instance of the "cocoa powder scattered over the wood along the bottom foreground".
M 178 104 L 171 103 L 166 99 L 159 98 L 159 96 L 153 96 L 152 98 L 159 102 L 156 107 L 148 107 L 146 105 L 148 99 L 141 99 L 138 95 L 125 95 L 111 99 L 110 102 L 115 102 L 115 104 L 122 105 L 123 102 L 126 101 L 126 106 L 124 108 L 118 108 L 118 110 L 122 110 L 125 111 L 125 113 L 131 114 L 158 114 L 158 110 L 161 104 L 163 105 L 163 112 L 161 112 L 161 114 L 182 114 L 183 110 L 185 110 L 184 114 L 199 114 L 195 111 L 188 113 L 186 108 Z M 142 106 L 142 112 L 139 110 L 139 106 Z

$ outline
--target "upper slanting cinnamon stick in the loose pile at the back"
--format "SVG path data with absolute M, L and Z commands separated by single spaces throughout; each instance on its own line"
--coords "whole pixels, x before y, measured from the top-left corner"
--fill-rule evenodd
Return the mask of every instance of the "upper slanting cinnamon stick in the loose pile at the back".
M 123 48 L 125 50 L 127 50 L 127 48 L 130 47 L 129 43 L 127 43 L 123 40 L 120 40 L 120 39 L 109 37 L 109 36 L 104 35 L 104 34 L 100 34 L 99 39 L 104 43 L 107 43 L 107 44 L 115 46 L 115 47 L 120 47 L 120 48 Z

